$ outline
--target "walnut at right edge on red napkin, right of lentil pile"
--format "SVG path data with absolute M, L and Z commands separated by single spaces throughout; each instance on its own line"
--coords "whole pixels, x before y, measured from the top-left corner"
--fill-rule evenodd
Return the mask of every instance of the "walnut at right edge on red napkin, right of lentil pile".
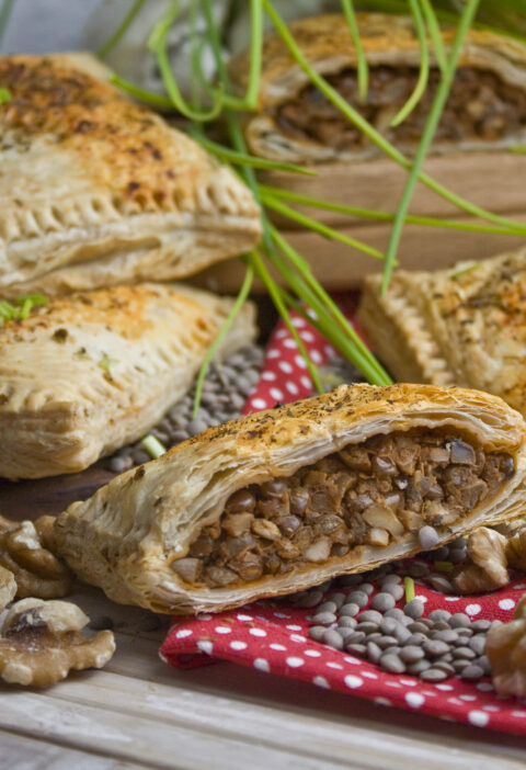
M 511 623 L 488 632 L 485 654 L 491 664 L 493 686 L 500 695 L 526 697 L 526 595 Z

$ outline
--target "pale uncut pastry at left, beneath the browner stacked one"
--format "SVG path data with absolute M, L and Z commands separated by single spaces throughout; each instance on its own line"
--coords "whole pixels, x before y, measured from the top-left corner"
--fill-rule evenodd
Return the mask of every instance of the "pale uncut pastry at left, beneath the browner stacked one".
M 57 297 L 0 328 L 0 476 L 82 471 L 144 435 L 186 392 L 232 301 L 141 284 Z M 222 353 L 251 341 L 254 308 Z

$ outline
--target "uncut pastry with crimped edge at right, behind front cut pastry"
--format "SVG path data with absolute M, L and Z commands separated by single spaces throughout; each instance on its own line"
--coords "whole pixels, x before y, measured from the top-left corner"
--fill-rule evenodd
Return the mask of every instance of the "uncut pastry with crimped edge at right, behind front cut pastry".
M 488 390 L 526 415 L 525 249 L 397 271 L 384 297 L 380 285 L 381 275 L 365 279 L 359 320 L 397 380 Z

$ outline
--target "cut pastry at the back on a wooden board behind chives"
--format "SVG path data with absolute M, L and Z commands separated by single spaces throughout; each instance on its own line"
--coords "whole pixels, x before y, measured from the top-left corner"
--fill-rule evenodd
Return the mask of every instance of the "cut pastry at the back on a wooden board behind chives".
M 426 92 L 399 126 L 390 123 L 412 93 L 420 48 L 410 18 L 357 13 L 369 64 L 366 103 L 357 99 L 356 52 L 343 15 L 309 16 L 290 31 L 313 69 L 399 149 L 416 148 L 439 80 L 436 66 Z M 443 31 L 448 48 L 455 29 Z M 231 65 L 247 77 L 244 57 Z M 244 81 L 240 82 L 240 87 Z M 472 30 L 460 55 L 433 152 L 496 148 L 526 136 L 526 47 L 496 34 Z M 359 160 L 381 154 L 312 86 L 276 33 L 267 36 L 256 112 L 249 118 L 250 149 L 265 158 L 295 162 Z

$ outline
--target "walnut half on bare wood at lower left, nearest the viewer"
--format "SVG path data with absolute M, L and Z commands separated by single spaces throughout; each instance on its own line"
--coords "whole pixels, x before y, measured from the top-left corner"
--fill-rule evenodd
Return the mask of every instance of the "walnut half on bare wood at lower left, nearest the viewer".
M 102 668 L 115 652 L 115 641 L 111 631 L 83 636 L 88 622 L 70 602 L 18 601 L 2 625 L 0 676 L 11 684 L 48 687 L 71 669 Z

